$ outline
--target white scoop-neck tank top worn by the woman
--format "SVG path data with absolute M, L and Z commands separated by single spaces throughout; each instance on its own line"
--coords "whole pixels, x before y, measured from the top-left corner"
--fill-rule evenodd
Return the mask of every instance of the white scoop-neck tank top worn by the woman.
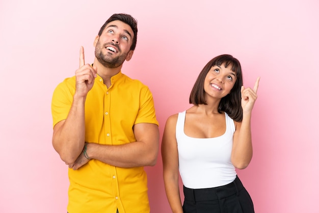
M 191 138 L 184 133 L 186 111 L 178 114 L 176 140 L 179 173 L 183 184 L 191 189 L 219 187 L 236 178 L 231 163 L 234 121 L 225 113 L 226 131 L 216 138 Z

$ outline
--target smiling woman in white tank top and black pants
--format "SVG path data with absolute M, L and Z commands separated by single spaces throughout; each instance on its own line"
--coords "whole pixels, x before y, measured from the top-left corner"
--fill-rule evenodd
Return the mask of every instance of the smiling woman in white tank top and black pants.
M 250 120 L 258 84 L 259 77 L 253 89 L 245 88 L 240 62 L 215 57 L 195 82 L 193 107 L 167 119 L 162 159 L 172 212 L 254 212 L 235 168 L 245 169 L 252 158 Z

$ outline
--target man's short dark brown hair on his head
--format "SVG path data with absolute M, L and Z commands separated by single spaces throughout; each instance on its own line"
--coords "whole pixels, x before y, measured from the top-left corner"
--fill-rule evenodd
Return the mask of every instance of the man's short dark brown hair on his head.
M 112 21 L 122 21 L 124 23 L 126 23 L 127 25 L 130 26 L 130 28 L 132 29 L 133 33 L 134 33 L 134 37 L 133 37 L 133 41 L 132 41 L 132 45 L 130 46 L 130 50 L 134 50 L 136 47 L 136 42 L 138 39 L 138 22 L 135 18 L 133 18 L 131 15 L 125 14 L 125 13 L 118 13 L 118 14 L 113 14 L 107 21 L 105 21 L 105 23 L 101 26 L 100 31 L 98 32 L 98 36 L 102 35 L 102 32 L 105 28 L 105 26 L 108 25 L 108 23 L 112 22 Z

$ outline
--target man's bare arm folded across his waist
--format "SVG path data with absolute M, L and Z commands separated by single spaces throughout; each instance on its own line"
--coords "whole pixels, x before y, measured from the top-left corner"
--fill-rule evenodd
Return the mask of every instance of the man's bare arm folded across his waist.
M 136 142 L 123 145 L 87 144 L 87 154 L 91 159 L 97 159 L 105 164 L 116 167 L 132 168 L 154 166 L 158 155 L 159 130 L 156 124 L 139 123 L 134 125 Z M 86 164 L 84 155 L 79 155 L 73 169 Z M 78 163 L 77 163 L 78 162 Z

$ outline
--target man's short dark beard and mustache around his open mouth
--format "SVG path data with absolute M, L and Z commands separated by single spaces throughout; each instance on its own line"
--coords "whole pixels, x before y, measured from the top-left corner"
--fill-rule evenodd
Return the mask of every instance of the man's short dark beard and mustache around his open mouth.
M 116 45 L 116 44 L 113 44 L 113 43 L 107 43 L 107 44 L 104 44 L 104 45 L 101 45 L 100 44 L 100 41 L 97 42 L 96 44 L 96 47 L 95 47 L 95 58 L 104 66 L 104 67 L 107 67 L 107 68 L 117 68 L 119 66 L 121 66 L 125 59 L 126 59 L 126 56 L 127 56 L 127 53 L 125 54 L 121 54 L 119 55 L 118 57 L 115 57 L 113 59 L 108 59 L 107 56 L 105 56 L 103 53 L 102 53 L 102 49 L 104 48 L 104 46 L 108 45 L 108 44 L 112 44 L 113 46 L 116 46 L 120 52 L 120 48 Z

